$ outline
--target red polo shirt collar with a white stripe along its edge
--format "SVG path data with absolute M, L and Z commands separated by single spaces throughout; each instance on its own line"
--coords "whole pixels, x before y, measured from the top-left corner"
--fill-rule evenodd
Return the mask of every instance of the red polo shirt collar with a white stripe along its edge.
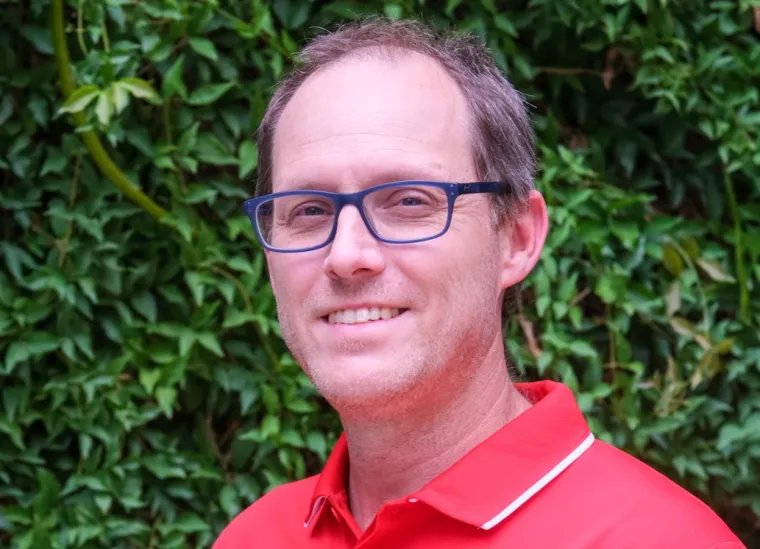
M 533 406 L 473 448 L 408 499 L 488 530 L 519 509 L 593 443 L 568 387 L 517 383 Z M 304 526 L 319 521 L 328 498 L 346 493 L 348 447 L 341 435 L 312 495 Z

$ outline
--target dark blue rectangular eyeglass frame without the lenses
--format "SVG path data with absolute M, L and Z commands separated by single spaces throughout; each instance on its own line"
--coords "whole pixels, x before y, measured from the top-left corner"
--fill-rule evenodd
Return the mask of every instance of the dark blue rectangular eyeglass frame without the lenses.
M 408 185 L 422 185 L 422 186 L 428 186 L 428 187 L 436 187 L 438 189 L 442 189 L 446 191 L 446 197 L 449 201 L 449 210 L 448 210 L 448 218 L 446 219 L 446 225 L 443 227 L 443 229 L 436 235 L 428 236 L 425 238 L 415 238 L 412 240 L 397 240 L 397 239 L 391 239 L 391 238 L 383 238 L 379 234 L 377 234 L 377 231 L 372 226 L 372 222 L 367 218 L 366 213 L 364 212 L 364 197 L 367 196 L 370 193 L 373 193 L 375 191 L 379 191 L 381 189 L 387 189 L 390 187 L 406 187 Z M 387 244 L 415 244 L 418 242 L 427 242 L 428 240 L 433 240 L 436 238 L 441 237 L 446 231 L 449 230 L 449 227 L 451 226 L 451 218 L 453 217 L 454 213 L 454 202 L 456 202 L 456 199 L 463 194 L 481 194 L 481 193 L 508 193 L 509 192 L 509 186 L 501 181 L 475 181 L 471 183 L 443 183 L 440 181 L 425 181 L 425 180 L 409 180 L 409 181 L 394 181 L 392 183 L 383 183 L 382 185 L 376 185 L 374 187 L 370 187 L 368 189 L 365 189 L 363 191 L 355 192 L 355 193 L 336 193 L 331 191 L 320 191 L 320 190 L 297 190 L 297 191 L 283 191 L 279 193 L 271 193 L 266 194 L 263 196 L 258 196 L 255 198 L 249 198 L 245 202 L 243 202 L 243 211 L 248 216 L 248 219 L 251 221 L 251 224 L 253 225 L 254 230 L 256 231 L 256 237 L 259 240 L 259 243 L 266 249 L 271 252 L 277 252 L 277 253 L 302 253 L 302 252 L 311 252 L 313 250 L 318 250 L 320 248 L 324 248 L 325 246 L 329 245 L 333 239 L 335 238 L 335 234 L 338 231 L 338 218 L 340 217 L 340 212 L 343 209 L 344 206 L 352 205 L 355 206 L 356 209 L 359 211 L 359 215 L 361 215 L 362 221 L 364 222 L 364 226 L 367 227 L 367 230 L 370 232 L 370 234 L 375 237 L 380 242 L 385 242 Z M 317 195 L 317 196 L 323 196 L 325 198 L 329 198 L 333 201 L 335 204 L 335 221 L 333 222 L 332 230 L 330 231 L 330 234 L 325 239 L 325 241 L 322 244 L 318 244 L 316 246 L 311 246 L 310 248 L 295 248 L 295 249 L 286 249 L 286 248 L 276 248 L 274 246 L 270 246 L 266 243 L 264 240 L 264 237 L 261 234 L 261 228 L 259 227 L 259 221 L 258 217 L 256 215 L 259 207 L 264 203 L 268 202 L 270 200 L 273 200 L 280 196 L 296 196 L 296 195 Z

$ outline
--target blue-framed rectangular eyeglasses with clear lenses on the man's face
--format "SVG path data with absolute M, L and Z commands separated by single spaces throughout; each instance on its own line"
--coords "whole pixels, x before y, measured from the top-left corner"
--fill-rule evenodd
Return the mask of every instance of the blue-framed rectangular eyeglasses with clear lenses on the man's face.
M 389 244 L 411 244 L 443 235 L 454 202 L 463 194 L 506 193 L 499 182 L 399 181 L 357 193 L 286 191 L 251 198 L 243 210 L 262 246 L 272 252 L 308 252 L 332 242 L 344 206 L 355 206 L 369 232 Z

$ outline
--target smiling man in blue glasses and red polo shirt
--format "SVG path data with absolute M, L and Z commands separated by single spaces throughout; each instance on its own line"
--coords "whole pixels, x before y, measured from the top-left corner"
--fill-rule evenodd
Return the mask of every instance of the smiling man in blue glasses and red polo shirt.
M 483 46 L 374 19 L 303 53 L 245 209 L 283 337 L 344 433 L 215 548 L 743 547 L 595 440 L 566 387 L 510 380 L 502 300 L 547 211 L 525 108 Z

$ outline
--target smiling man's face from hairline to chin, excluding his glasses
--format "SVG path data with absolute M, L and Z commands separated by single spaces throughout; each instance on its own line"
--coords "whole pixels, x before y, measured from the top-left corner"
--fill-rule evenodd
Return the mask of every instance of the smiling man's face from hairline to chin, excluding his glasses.
M 285 108 L 273 191 L 475 181 L 469 135 L 460 90 L 431 60 L 344 60 L 310 77 Z M 446 234 L 399 245 L 375 240 L 348 206 L 331 245 L 267 254 L 283 337 L 339 412 L 446 392 L 501 347 L 506 237 L 490 208 L 488 195 L 462 196 Z M 381 318 L 331 322 L 338 311 L 339 321 Z

